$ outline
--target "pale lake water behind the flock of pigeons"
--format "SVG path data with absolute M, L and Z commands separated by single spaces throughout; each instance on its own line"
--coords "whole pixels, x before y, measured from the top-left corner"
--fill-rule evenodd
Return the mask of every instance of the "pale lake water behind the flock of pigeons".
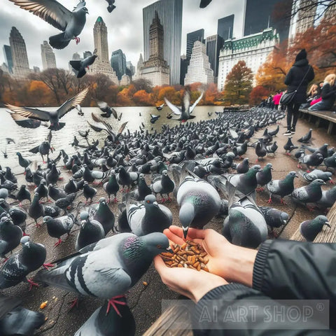
M 43 108 L 44 109 L 44 108 Z M 53 111 L 55 108 L 47 108 L 45 110 Z M 162 129 L 163 124 L 168 124 L 171 126 L 178 125 L 178 121 L 174 121 L 172 119 L 167 119 L 167 113 L 171 112 L 171 110 L 165 106 L 161 111 L 155 109 L 155 107 L 151 106 L 131 106 L 131 107 L 117 107 L 116 111 L 118 116 L 120 113 L 123 113 L 123 116 L 120 121 L 116 120 L 111 116 L 110 118 L 103 118 L 108 123 L 111 124 L 113 130 L 118 132 L 120 125 L 128 121 L 127 128 L 124 132 L 127 132 L 127 129 L 130 132 L 134 132 L 135 130 L 139 130 L 139 126 L 141 123 L 144 123 L 145 130 L 149 132 L 153 132 L 153 130 Z M 222 106 L 197 106 L 193 111 L 193 115 L 195 118 L 190 122 L 197 122 L 200 120 L 208 120 L 211 118 L 216 118 L 215 111 L 223 111 Z M 208 116 L 208 112 L 213 112 L 212 116 Z M 78 116 L 77 110 L 73 109 L 68 112 L 60 121 L 66 123 L 66 125 L 59 131 L 52 131 L 52 146 L 55 148 L 55 153 L 51 155 L 51 157 L 56 157 L 59 153 L 60 149 L 64 149 L 66 153 L 73 154 L 76 153 L 77 150 L 82 153 L 83 148 L 75 148 L 71 146 L 73 141 L 73 137 L 76 135 L 80 144 L 86 145 L 85 139 L 80 137 L 78 134 L 78 130 L 87 130 L 89 125 L 86 120 L 91 120 L 91 113 L 99 115 L 102 113 L 98 108 L 83 108 L 84 116 Z M 141 113 L 141 116 L 139 116 Z M 151 124 L 151 114 L 155 114 L 156 116 L 160 115 L 159 120 L 155 124 Z M 174 118 L 177 118 L 176 116 Z M 153 127 L 153 130 L 151 130 Z M 142 127 L 141 127 L 142 128 Z M 38 144 L 41 144 L 44 141 L 45 137 L 48 136 L 49 130 L 46 127 L 40 126 L 36 129 L 28 129 L 23 128 L 17 125 L 14 120 L 10 117 L 9 113 L 6 112 L 6 109 L 0 109 L 0 165 L 1 167 L 11 167 L 13 172 L 22 172 L 22 168 L 18 165 L 18 156 L 15 155 L 17 151 L 20 151 L 24 157 L 30 158 L 31 160 L 41 160 L 41 155 L 33 154 L 29 152 L 29 149 L 34 148 Z M 90 130 L 89 133 L 89 141 L 92 139 L 99 139 L 99 144 L 102 145 L 104 138 L 106 137 L 106 132 L 102 131 L 100 133 L 94 132 L 94 130 Z M 9 144 L 6 146 L 6 138 L 11 138 L 15 141 L 15 144 Z M 3 154 L 1 151 L 7 151 L 8 158 L 3 158 Z

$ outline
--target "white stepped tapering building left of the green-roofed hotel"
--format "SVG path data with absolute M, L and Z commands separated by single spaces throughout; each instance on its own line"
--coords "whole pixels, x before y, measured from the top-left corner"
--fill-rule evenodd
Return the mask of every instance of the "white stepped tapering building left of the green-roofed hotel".
M 194 43 L 184 85 L 190 85 L 196 82 L 202 84 L 214 83 L 214 71 L 211 69 L 209 63 L 207 48 L 201 41 L 195 41 Z

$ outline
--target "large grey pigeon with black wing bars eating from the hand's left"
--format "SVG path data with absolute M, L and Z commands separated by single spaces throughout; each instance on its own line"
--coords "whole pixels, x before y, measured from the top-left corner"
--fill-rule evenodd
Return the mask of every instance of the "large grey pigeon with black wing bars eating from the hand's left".
M 109 300 L 106 314 L 123 295 L 139 281 L 151 265 L 155 255 L 167 251 L 169 241 L 165 235 L 154 232 L 137 237 L 120 233 L 92 244 L 69 256 L 48 272 L 39 271 L 35 280 L 82 295 Z

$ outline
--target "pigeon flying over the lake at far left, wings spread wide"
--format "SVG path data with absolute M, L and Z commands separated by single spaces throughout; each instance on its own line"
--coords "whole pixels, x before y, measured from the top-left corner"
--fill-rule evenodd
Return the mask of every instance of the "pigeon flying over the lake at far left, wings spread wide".
M 21 0 L 10 0 L 10 1 L 19 2 Z M 29 6 L 31 6 L 31 3 L 37 2 L 36 0 L 35 1 L 24 0 L 24 1 L 27 2 L 27 5 L 25 4 L 25 6 L 28 6 L 28 4 Z M 38 0 L 38 1 L 42 1 L 42 0 Z M 58 4 L 56 0 L 52 0 L 52 2 L 50 3 L 52 3 L 53 6 L 57 6 Z M 36 7 L 38 8 L 38 6 Z M 38 11 L 36 11 L 36 13 L 38 13 Z M 13 106 L 10 104 L 5 104 L 5 105 L 8 109 L 10 109 L 10 111 L 18 113 L 23 117 L 42 120 L 42 121 L 50 121 L 50 130 L 59 130 L 60 129 L 59 128 L 59 118 L 62 118 L 66 113 L 68 113 L 73 108 L 75 108 L 77 104 L 80 104 L 81 102 L 83 102 L 83 99 L 85 98 L 88 91 L 89 91 L 89 87 L 79 92 L 78 94 L 76 94 L 76 96 L 72 97 L 71 99 L 68 99 L 61 106 L 59 106 L 59 108 L 56 111 L 49 112 L 49 111 L 44 111 L 44 110 L 35 109 L 31 107 L 18 107 L 18 106 Z

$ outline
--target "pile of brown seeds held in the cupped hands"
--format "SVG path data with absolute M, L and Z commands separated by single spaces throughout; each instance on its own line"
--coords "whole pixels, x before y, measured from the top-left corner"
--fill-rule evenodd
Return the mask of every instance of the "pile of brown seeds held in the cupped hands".
M 171 246 L 174 253 L 161 253 L 162 259 L 168 267 L 186 267 L 200 271 L 203 269 L 209 272 L 206 266 L 209 259 L 206 258 L 207 252 L 200 244 L 187 240 L 183 245 Z

